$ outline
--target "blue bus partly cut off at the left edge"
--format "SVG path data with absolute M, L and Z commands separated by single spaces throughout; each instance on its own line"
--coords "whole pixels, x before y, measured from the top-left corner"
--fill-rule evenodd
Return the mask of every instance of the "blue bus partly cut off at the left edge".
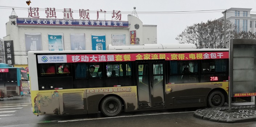
M 0 63 L 0 97 L 29 94 L 27 70 Z

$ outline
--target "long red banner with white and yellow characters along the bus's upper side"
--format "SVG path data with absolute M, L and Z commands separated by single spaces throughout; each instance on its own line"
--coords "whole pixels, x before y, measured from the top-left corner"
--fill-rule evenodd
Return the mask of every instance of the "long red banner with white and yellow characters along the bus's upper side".
M 68 54 L 67 62 L 111 62 L 135 60 L 207 60 L 228 58 L 228 52 L 201 53 L 126 53 L 126 54 Z M 216 79 L 216 78 L 215 78 Z

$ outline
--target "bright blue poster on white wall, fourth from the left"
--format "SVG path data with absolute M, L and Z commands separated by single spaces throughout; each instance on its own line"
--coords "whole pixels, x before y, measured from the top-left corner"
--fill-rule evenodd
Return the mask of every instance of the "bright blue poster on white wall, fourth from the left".
M 106 35 L 92 34 L 92 50 L 106 50 Z

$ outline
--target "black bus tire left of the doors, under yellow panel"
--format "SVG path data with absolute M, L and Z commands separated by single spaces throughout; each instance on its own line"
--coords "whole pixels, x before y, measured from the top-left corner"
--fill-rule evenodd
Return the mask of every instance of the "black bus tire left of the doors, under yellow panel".
M 101 102 L 101 112 L 107 117 L 119 115 L 122 108 L 122 102 L 114 96 L 107 97 Z

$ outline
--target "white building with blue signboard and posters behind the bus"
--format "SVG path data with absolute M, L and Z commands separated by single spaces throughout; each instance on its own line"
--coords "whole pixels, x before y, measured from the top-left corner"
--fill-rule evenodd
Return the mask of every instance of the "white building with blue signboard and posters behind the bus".
M 9 54 L 5 54 L 6 64 L 25 68 L 29 50 L 104 50 L 109 44 L 157 44 L 157 25 L 143 25 L 133 15 L 127 20 L 9 16 L 4 43 L 11 44 L 13 50 L 5 49 Z

